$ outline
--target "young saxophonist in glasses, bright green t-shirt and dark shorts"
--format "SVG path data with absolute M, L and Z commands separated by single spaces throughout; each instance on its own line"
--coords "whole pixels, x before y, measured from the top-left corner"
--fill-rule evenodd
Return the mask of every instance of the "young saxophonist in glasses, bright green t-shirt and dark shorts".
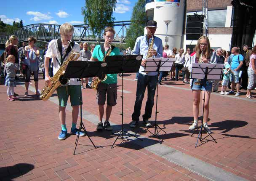
M 104 30 L 105 42 L 102 45 L 96 45 L 91 56 L 92 61 L 103 61 L 104 56 L 110 51 L 110 44 L 112 43 L 115 35 L 115 30 L 112 27 L 107 27 Z M 111 47 L 111 53 L 109 56 L 120 55 L 120 50 L 117 47 Z M 96 79 L 95 77 L 93 78 Z M 107 107 L 106 107 L 106 120 L 102 122 L 104 115 L 104 104 L 107 96 Z M 111 115 L 112 107 L 117 104 L 117 74 L 107 74 L 107 79 L 99 83 L 97 89 L 97 100 L 98 100 L 98 115 L 99 123 L 97 125 L 97 130 L 112 130 L 109 123 L 109 117 Z

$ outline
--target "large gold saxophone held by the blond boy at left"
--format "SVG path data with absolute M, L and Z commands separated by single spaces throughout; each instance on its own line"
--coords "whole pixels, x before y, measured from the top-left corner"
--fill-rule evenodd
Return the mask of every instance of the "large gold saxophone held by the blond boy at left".
M 70 44 L 70 43 L 69 43 Z M 71 46 L 71 45 L 70 45 Z M 72 48 L 72 46 L 71 46 Z M 40 99 L 42 99 L 43 101 L 47 101 L 48 98 L 51 97 L 51 95 L 53 94 L 53 92 L 60 86 L 60 85 L 68 85 L 69 84 L 69 80 L 68 79 L 64 79 L 63 75 L 65 73 L 65 70 L 67 68 L 67 64 L 69 63 L 69 61 L 76 61 L 80 56 L 80 53 L 74 52 L 73 48 L 72 51 L 69 53 L 69 56 L 67 57 L 67 59 L 63 62 L 63 64 L 61 65 L 61 67 L 59 68 L 59 70 L 56 72 L 56 74 L 51 77 L 51 85 L 45 85 L 41 95 L 40 95 Z

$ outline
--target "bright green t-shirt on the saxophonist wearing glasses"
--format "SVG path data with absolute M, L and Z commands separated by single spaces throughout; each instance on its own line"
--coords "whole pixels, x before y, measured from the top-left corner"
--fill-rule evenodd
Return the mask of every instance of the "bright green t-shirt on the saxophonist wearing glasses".
M 105 55 L 106 55 L 106 51 L 105 51 Z M 113 56 L 113 55 L 120 55 L 120 50 L 119 48 L 115 47 L 109 56 Z M 100 45 L 96 45 L 96 47 L 93 50 L 93 55 L 92 57 L 94 59 L 98 59 L 99 61 L 103 61 L 104 59 L 104 55 L 101 52 L 101 46 Z M 102 83 L 105 84 L 115 84 L 117 83 L 117 74 L 107 74 L 107 80 L 103 81 Z

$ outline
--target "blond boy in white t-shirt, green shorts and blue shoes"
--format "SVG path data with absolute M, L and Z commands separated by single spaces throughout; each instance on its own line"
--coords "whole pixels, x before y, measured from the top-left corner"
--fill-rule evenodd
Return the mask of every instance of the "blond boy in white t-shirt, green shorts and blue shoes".
M 64 23 L 60 27 L 61 39 L 51 40 L 48 45 L 48 50 L 45 54 L 45 83 L 51 85 L 51 77 L 49 76 L 49 59 L 53 59 L 53 75 L 61 67 L 61 64 L 68 58 L 71 48 L 69 48 L 69 40 L 72 39 L 74 33 L 74 27 L 69 23 Z M 77 43 L 72 42 L 73 50 L 80 53 L 80 47 Z M 59 51 L 62 49 L 62 52 Z M 79 57 L 78 60 L 81 60 Z M 57 88 L 57 94 L 59 98 L 59 119 L 61 121 L 61 132 L 59 133 L 59 140 L 64 140 L 67 137 L 66 127 L 66 106 L 70 96 L 70 102 L 72 106 L 72 128 L 71 134 L 78 135 L 77 118 L 79 113 L 80 101 L 80 82 L 77 79 L 70 79 L 67 87 L 60 86 Z M 80 132 L 79 136 L 85 136 L 85 133 Z

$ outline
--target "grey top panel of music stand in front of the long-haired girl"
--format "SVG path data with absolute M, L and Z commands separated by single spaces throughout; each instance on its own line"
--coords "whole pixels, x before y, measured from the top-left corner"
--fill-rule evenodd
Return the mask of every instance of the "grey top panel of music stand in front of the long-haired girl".
M 220 80 L 224 64 L 199 64 L 192 63 L 192 79 L 204 79 L 205 68 L 208 67 L 207 80 Z M 202 69 L 203 70 L 202 70 Z

